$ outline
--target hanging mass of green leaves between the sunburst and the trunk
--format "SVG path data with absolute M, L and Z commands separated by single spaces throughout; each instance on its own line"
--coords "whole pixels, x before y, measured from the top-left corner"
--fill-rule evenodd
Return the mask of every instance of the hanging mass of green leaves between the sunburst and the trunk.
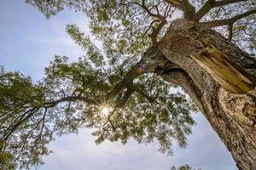
M 149 80 L 145 78 L 142 82 Z M 156 89 L 158 85 L 160 88 Z M 191 133 L 191 126 L 195 124 L 190 115 L 192 107 L 183 94 L 170 94 L 169 89 L 168 84 L 154 77 L 154 82 L 148 83 L 144 90 L 158 96 L 156 101 L 150 103 L 140 94 L 133 94 L 123 108 L 116 109 L 107 117 L 103 127 L 102 122 L 94 126 L 98 130 L 93 134 L 99 137 L 96 143 L 109 139 L 121 140 L 125 144 L 133 138 L 138 143 L 148 144 L 156 139 L 160 143 L 160 151 L 170 155 L 172 139 L 185 147 L 185 135 Z

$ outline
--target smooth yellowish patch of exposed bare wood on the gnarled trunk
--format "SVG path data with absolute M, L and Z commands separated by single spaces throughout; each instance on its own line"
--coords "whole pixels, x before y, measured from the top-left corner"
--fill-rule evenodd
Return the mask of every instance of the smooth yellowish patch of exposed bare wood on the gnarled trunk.
M 253 80 L 238 65 L 228 59 L 218 48 L 209 45 L 201 55 L 191 55 L 199 65 L 225 89 L 236 94 L 248 93 L 254 88 Z

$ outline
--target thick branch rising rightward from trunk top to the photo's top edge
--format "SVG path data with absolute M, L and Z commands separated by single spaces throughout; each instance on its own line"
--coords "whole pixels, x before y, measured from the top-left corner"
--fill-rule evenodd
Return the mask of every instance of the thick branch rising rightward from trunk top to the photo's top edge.
M 218 1 L 218 2 L 216 2 L 215 0 L 208 0 L 207 3 L 204 4 L 198 10 L 198 12 L 195 14 L 195 17 L 193 18 L 193 20 L 195 20 L 195 21 L 201 20 L 201 18 L 204 15 L 206 15 L 212 8 L 217 8 L 217 7 L 228 5 L 231 3 L 239 3 L 239 2 L 243 2 L 243 1 L 247 1 L 247 0 L 224 0 L 224 1 Z

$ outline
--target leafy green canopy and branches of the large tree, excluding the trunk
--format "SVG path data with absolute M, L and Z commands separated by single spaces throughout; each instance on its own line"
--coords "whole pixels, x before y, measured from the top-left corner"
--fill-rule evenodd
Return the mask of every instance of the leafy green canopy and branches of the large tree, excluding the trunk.
M 105 139 L 148 144 L 156 139 L 160 151 L 172 155 L 172 139 L 186 146 L 195 121 L 195 105 L 175 84 L 158 76 L 154 50 L 172 20 L 194 20 L 218 31 L 252 54 L 255 52 L 253 0 L 127 1 L 26 0 L 47 18 L 63 8 L 82 11 L 90 18 L 96 47 L 78 26 L 67 33 L 84 49 L 84 56 L 69 62 L 55 55 L 45 76 L 32 82 L 20 72 L 0 71 L 0 150 L 2 167 L 42 163 L 46 144 L 55 135 L 94 129 L 100 144 Z M 239 8 L 237 8 L 239 7 Z M 234 11 L 234 8 L 237 8 Z M 166 61 L 165 65 L 170 65 Z M 163 65 L 163 66 L 165 66 Z M 105 110 L 105 111 L 102 111 Z M 107 111 L 106 111 L 107 110 Z

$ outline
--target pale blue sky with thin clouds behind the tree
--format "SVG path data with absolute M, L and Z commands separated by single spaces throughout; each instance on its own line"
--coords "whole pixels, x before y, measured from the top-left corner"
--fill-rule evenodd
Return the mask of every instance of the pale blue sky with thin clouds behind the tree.
M 38 9 L 20 0 L 0 0 L 0 65 L 20 71 L 36 82 L 55 54 L 72 60 L 84 54 L 65 31 L 76 24 L 90 34 L 88 20 L 81 13 L 65 10 L 46 20 Z M 54 153 L 45 156 L 39 170 L 169 170 L 189 164 L 203 170 L 234 170 L 236 163 L 201 113 L 193 115 L 197 125 L 188 137 L 186 149 L 174 144 L 174 156 L 158 151 L 158 143 L 143 145 L 130 140 L 123 145 L 108 141 L 96 145 L 90 129 L 56 137 L 49 144 Z

